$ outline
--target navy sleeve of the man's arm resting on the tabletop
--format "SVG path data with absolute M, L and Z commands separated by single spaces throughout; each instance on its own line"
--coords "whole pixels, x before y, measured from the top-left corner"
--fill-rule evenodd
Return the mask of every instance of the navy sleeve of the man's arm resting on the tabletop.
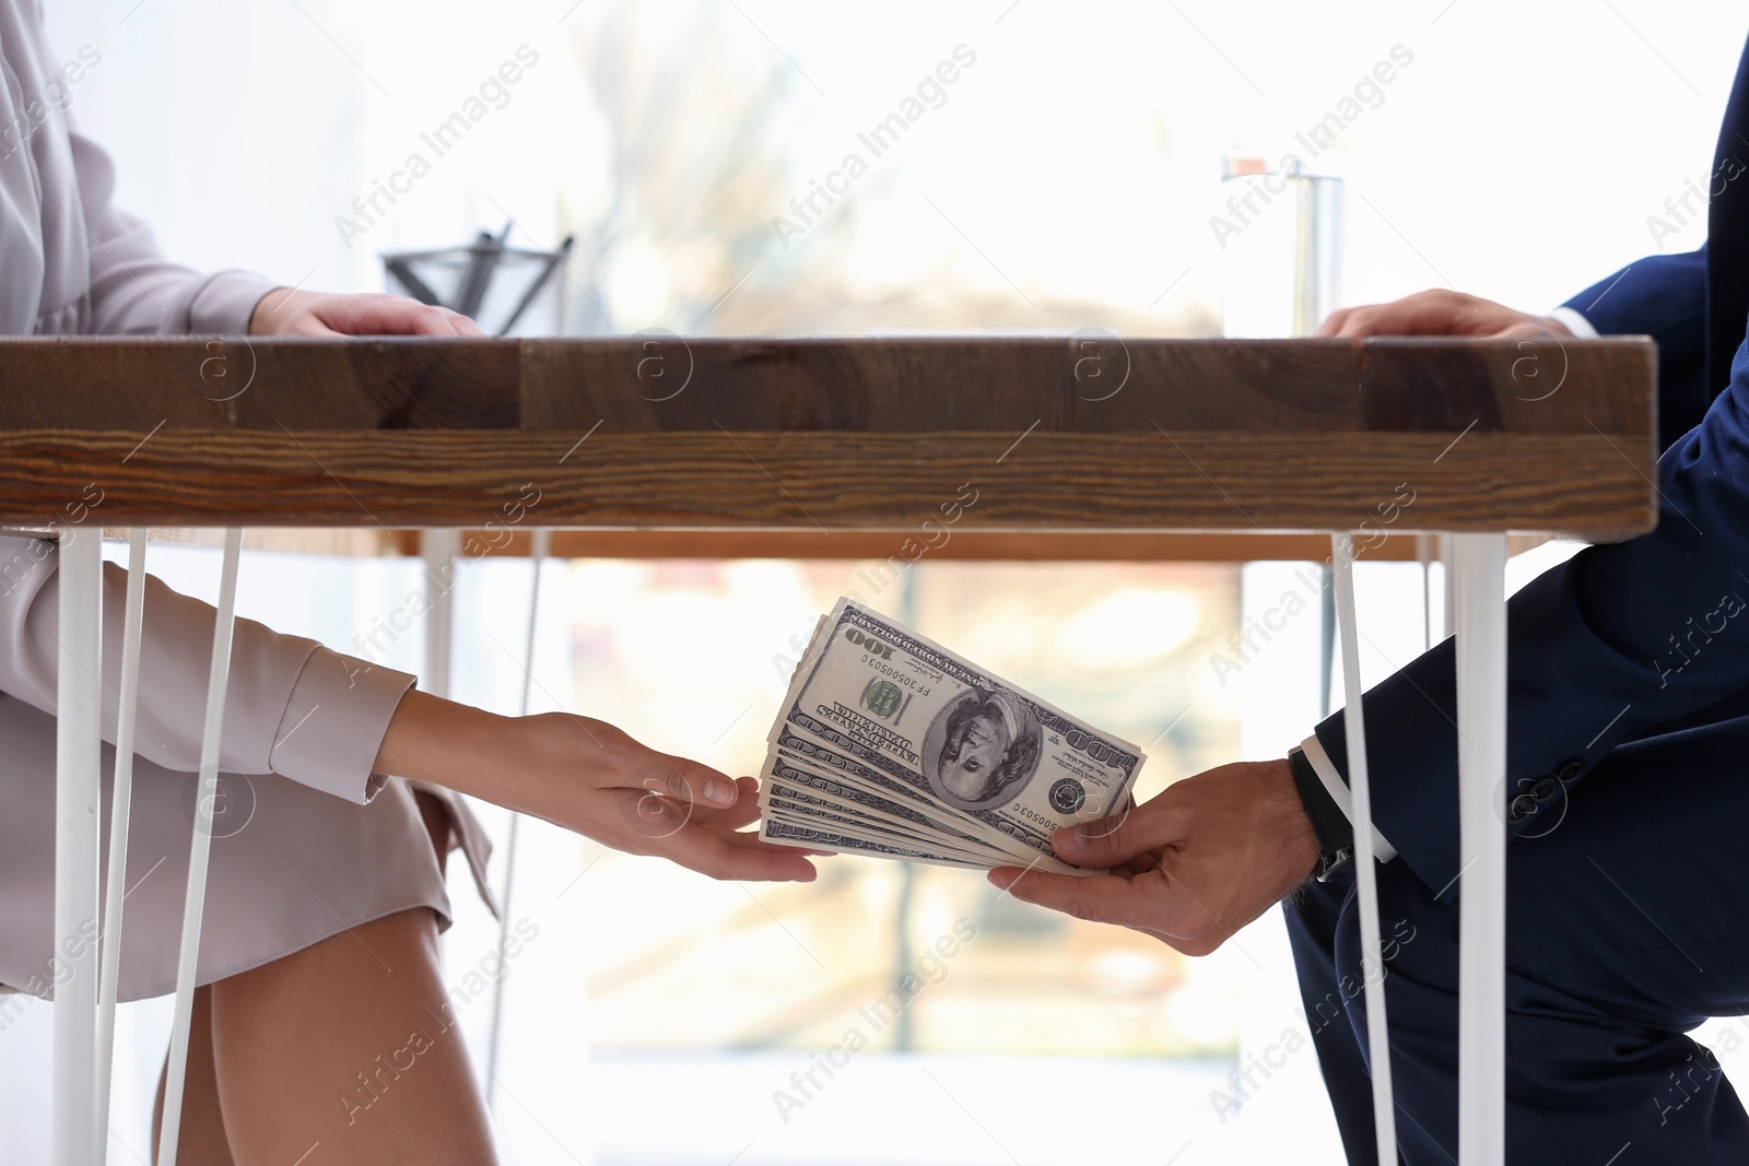
M 1705 243 L 1698 252 L 1635 260 L 1562 306 L 1604 336 L 1658 341 L 1660 449 L 1700 421 L 1714 388 L 1707 383 Z

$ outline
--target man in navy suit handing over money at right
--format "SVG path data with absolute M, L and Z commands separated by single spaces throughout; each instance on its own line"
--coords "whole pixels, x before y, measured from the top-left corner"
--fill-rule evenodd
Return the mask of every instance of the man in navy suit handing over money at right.
M 1686 1037 L 1705 1017 L 1749 1014 L 1744 159 L 1749 52 L 1707 189 L 1707 246 L 1642 259 L 1550 316 L 1422 292 L 1320 329 L 1644 332 L 1660 346 L 1658 528 L 1588 547 L 1509 603 L 1511 1163 L 1749 1163 L 1749 1117 L 1712 1052 Z M 1455 708 L 1452 640 L 1366 694 L 1380 918 L 1394 939 L 1392 1084 L 1411 1166 L 1457 1161 Z M 1376 1166 L 1354 867 L 1340 865 L 1352 843 L 1345 760 L 1338 713 L 1287 760 L 1223 766 L 1121 822 L 1056 837 L 1065 858 L 1118 867 L 1111 876 L 990 878 L 1189 954 L 1300 888 L 1287 927 L 1307 1023 L 1348 1159 Z

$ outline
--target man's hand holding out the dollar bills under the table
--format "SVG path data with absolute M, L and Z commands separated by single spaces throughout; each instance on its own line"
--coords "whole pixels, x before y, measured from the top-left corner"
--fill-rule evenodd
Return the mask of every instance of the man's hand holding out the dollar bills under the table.
M 1056 853 L 1109 874 L 997 867 L 1014 899 L 1147 932 L 1205 956 L 1317 867 L 1319 844 L 1287 760 L 1221 766 L 1126 815 L 1058 830 Z

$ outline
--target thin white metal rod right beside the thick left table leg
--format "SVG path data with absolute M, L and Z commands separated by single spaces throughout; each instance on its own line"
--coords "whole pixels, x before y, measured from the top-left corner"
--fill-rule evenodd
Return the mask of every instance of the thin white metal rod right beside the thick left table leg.
M 140 704 L 140 626 L 145 617 L 145 528 L 128 542 L 128 614 L 121 633 L 121 699 L 115 715 L 115 780 L 110 785 L 108 886 L 103 895 L 103 974 L 98 979 L 96 1161 L 108 1157 L 108 1094 L 115 1059 L 115 993 L 121 982 L 121 909 L 128 893 L 128 816 L 133 808 L 133 736 Z

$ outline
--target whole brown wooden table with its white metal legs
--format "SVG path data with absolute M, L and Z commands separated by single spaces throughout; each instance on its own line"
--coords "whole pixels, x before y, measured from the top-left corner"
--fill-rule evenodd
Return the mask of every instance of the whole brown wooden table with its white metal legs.
M 1272 545 L 1300 558 L 1329 531 L 1401 554 L 1404 535 L 1455 533 L 1459 1110 L 1466 1166 L 1499 1161 L 1506 533 L 1651 530 L 1651 341 L 28 339 L 0 343 L 0 524 L 61 533 L 58 935 L 98 907 L 100 526 L 374 528 L 383 545 L 460 528 L 491 542 L 479 552 L 539 526 L 567 531 L 561 552 L 901 566 Z M 219 619 L 227 631 L 226 601 Z M 1352 614 L 1343 631 L 1347 649 Z M 229 643 L 215 642 L 222 692 Z M 1352 661 L 1345 673 L 1352 710 Z M 222 710 L 208 711 L 206 780 Z M 1350 757 L 1376 932 L 1364 748 Z M 54 1014 L 61 1163 L 89 1157 L 107 1098 L 96 953 L 77 963 Z M 184 970 L 173 1059 L 191 956 Z

